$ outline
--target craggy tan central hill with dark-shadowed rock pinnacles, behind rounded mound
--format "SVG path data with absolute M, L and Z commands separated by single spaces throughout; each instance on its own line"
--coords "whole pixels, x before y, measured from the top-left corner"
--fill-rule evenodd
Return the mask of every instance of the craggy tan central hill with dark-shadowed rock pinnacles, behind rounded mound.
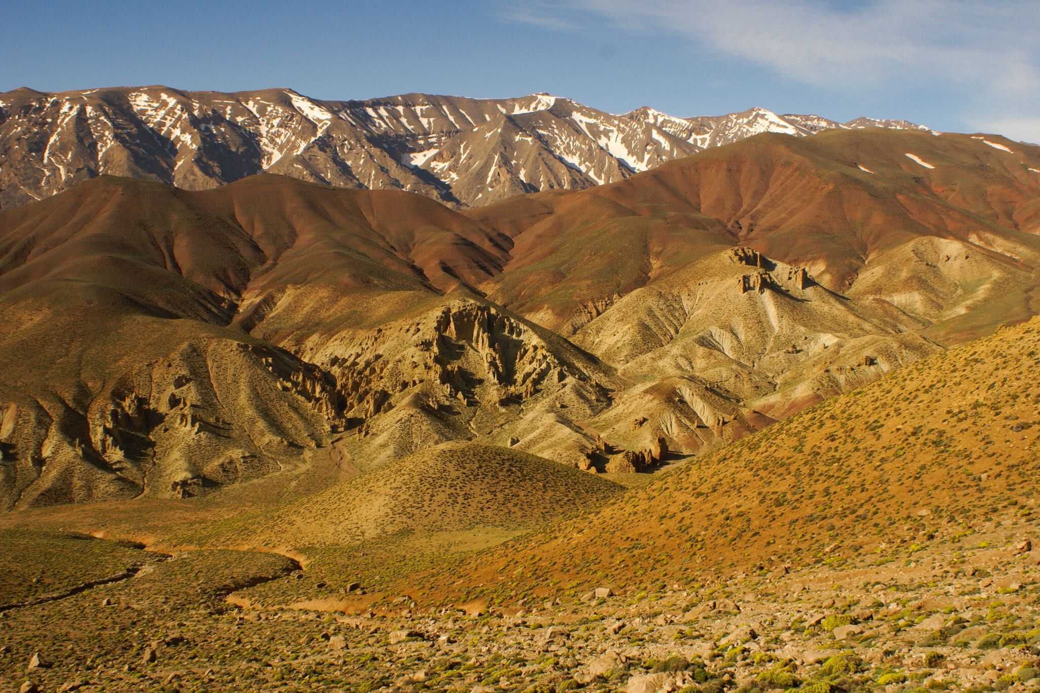
M 448 298 L 305 357 L 335 377 L 356 456 L 380 464 L 450 439 L 488 439 L 576 463 L 575 423 L 609 406 L 616 376 L 566 340 L 485 301 Z M 561 447 L 561 435 L 573 445 Z

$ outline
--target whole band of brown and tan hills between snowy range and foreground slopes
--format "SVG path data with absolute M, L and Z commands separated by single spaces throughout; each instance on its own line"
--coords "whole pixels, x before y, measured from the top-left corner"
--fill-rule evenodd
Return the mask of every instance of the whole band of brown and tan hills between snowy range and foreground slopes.
M 1040 312 L 1036 170 L 997 137 L 873 129 L 465 213 L 90 180 L 0 212 L 3 505 L 451 441 L 652 469 Z

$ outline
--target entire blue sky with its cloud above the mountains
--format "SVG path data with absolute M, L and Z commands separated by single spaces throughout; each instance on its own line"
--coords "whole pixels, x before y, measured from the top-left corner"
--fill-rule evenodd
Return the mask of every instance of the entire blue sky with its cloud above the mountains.
M 1037 0 L 57 0 L 5 8 L 0 90 L 549 91 L 610 112 L 763 106 L 1040 142 L 1038 35 Z

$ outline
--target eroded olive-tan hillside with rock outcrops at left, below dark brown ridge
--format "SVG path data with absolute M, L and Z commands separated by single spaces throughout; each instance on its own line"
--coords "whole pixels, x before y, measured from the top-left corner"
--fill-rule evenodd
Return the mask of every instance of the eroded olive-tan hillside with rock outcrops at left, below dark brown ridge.
M 342 423 L 334 384 L 282 350 L 200 339 L 97 390 L 0 388 L 0 503 L 183 498 L 296 467 Z

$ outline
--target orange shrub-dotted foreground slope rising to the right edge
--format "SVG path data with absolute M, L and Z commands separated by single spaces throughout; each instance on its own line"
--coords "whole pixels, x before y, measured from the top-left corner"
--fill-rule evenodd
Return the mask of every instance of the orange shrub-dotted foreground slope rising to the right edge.
M 1035 512 L 1038 354 L 1034 318 L 907 366 L 593 515 L 478 556 L 462 570 L 472 576 L 466 587 L 505 598 L 558 581 L 697 582 L 879 547 L 884 554 L 908 534 L 924 541 L 940 526 Z

